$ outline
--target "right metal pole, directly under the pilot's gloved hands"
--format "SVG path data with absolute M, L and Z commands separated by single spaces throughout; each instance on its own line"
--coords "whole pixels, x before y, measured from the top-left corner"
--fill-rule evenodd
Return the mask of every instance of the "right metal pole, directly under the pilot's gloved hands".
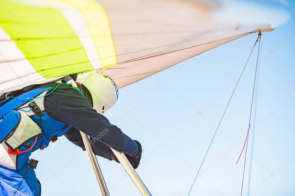
M 122 164 L 122 166 L 124 167 L 124 170 L 127 172 L 131 180 L 134 182 L 135 186 L 137 187 L 141 195 L 151 196 L 152 194 L 150 194 L 148 188 L 142 182 L 139 175 L 136 173 L 136 171 L 134 170 L 134 168 L 132 167 L 132 165 L 130 164 L 126 156 L 124 155 L 124 153 L 119 152 L 118 150 L 114 150 L 113 148 L 111 148 L 111 150 L 113 151 L 113 153 L 115 154 L 119 162 Z

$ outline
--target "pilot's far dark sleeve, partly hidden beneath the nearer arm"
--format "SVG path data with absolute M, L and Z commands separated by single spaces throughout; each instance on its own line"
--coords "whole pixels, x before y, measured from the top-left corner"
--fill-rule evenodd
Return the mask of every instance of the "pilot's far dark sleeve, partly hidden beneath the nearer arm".
M 85 150 L 85 146 L 82 140 L 82 136 L 81 133 L 78 129 L 71 127 L 65 134 L 64 136 L 70 140 L 73 144 L 79 146 L 80 148 L 82 148 L 83 150 Z M 111 153 L 112 150 L 109 148 L 108 145 L 94 139 L 94 138 L 90 138 L 90 144 L 92 146 L 92 150 L 94 152 L 94 154 L 101 156 L 103 158 L 106 158 L 108 160 L 112 160 L 111 159 Z

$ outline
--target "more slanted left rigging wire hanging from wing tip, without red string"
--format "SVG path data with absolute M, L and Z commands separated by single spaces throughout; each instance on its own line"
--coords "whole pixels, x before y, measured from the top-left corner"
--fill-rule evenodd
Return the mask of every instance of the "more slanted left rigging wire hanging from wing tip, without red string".
M 261 33 L 258 34 L 258 38 L 260 37 L 260 35 L 261 35 Z M 218 130 L 219 126 L 220 126 L 220 123 L 221 123 L 221 121 L 222 121 L 222 119 L 223 119 L 223 116 L 224 116 L 224 114 L 225 114 L 225 112 L 226 112 L 226 110 L 227 110 L 228 105 L 230 104 L 230 101 L 231 101 L 231 99 L 232 99 L 232 96 L 234 95 L 235 90 L 236 90 L 236 88 L 237 88 L 237 86 L 238 86 L 238 84 L 239 84 L 239 81 L 240 81 L 240 79 L 241 79 L 241 77 L 242 77 L 242 75 L 243 75 L 243 73 L 244 73 L 244 71 L 245 71 L 245 68 L 246 68 L 247 63 L 248 63 L 248 61 L 249 61 L 249 59 L 250 59 L 250 56 L 251 56 L 251 54 L 252 54 L 252 52 L 253 52 L 253 50 L 254 50 L 254 48 L 255 48 L 256 43 L 258 42 L 258 38 L 257 38 L 257 40 L 255 41 L 255 44 L 254 44 L 254 46 L 253 46 L 253 48 L 252 48 L 252 51 L 251 51 L 251 53 L 250 53 L 250 55 L 249 55 L 249 57 L 248 57 L 248 60 L 247 60 L 246 64 L 245 64 L 245 66 L 244 66 L 244 69 L 243 69 L 243 71 L 242 71 L 242 73 L 241 73 L 241 75 L 240 75 L 240 78 L 239 78 L 239 80 L 237 81 L 237 84 L 236 84 L 236 86 L 235 86 L 235 89 L 234 89 L 234 91 L 232 92 L 232 95 L 231 95 L 231 97 L 230 97 L 230 100 L 228 101 L 227 106 L 226 106 L 226 108 L 225 108 L 225 110 L 224 110 L 224 113 L 223 113 L 223 115 L 222 115 L 222 117 L 221 117 L 221 119 L 220 119 L 220 121 L 219 121 L 219 124 L 218 124 L 218 126 L 217 126 L 217 128 L 216 128 L 216 131 L 215 131 L 215 133 L 214 133 L 214 135 L 213 135 L 213 138 L 212 138 L 212 140 L 211 140 L 211 142 L 210 142 L 210 144 L 209 144 L 209 147 L 208 147 L 207 152 L 206 152 L 206 154 L 205 154 L 205 156 L 204 156 L 204 158 L 203 158 L 203 161 L 202 161 L 202 163 L 201 163 L 201 165 L 200 165 L 200 167 L 199 167 L 199 170 L 198 170 L 197 175 L 196 175 L 196 177 L 195 177 L 195 179 L 194 179 L 194 182 L 193 182 L 193 184 L 191 185 L 191 188 L 190 188 L 190 190 L 189 190 L 189 194 L 191 193 L 191 190 L 192 190 L 192 188 L 193 188 L 193 186 L 194 186 L 194 183 L 196 182 L 196 178 L 198 177 L 198 174 L 199 174 L 199 172 L 200 172 L 200 170 L 201 170 L 201 167 L 202 167 L 202 165 L 203 165 L 203 163 L 204 163 L 204 160 L 205 160 L 205 158 L 206 158 L 206 156 L 207 156 L 207 154 L 208 154 L 208 151 L 209 151 L 209 149 L 210 149 L 210 147 L 211 147 L 211 144 L 212 144 L 212 142 L 213 142 L 213 140 L 214 140 L 214 137 L 215 137 L 215 135 L 216 135 L 216 133 L 217 133 L 217 130 Z M 259 41 L 259 43 L 260 43 L 260 41 Z M 253 102 L 253 101 L 252 101 L 252 102 Z M 252 110 L 252 109 L 251 109 L 251 110 Z M 247 150 L 247 148 L 246 148 L 246 150 Z M 188 194 L 188 196 L 189 196 L 189 194 Z

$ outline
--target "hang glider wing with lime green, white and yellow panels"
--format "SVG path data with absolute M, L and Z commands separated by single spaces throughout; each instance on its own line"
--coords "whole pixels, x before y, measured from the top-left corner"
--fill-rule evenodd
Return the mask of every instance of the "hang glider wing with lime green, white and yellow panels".
M 225 2 L 0 0 L 0 92 L 98 69 L 120 88 L 287 17 Z

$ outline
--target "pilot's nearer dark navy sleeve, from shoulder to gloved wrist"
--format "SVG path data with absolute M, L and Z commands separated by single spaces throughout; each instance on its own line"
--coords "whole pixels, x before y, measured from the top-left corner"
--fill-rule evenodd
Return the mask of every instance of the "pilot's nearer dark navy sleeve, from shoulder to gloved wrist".
M 45 97 L 45 108 L 53 118 L 72 125 L 115 150 L 131 156 L 138 152 L 138 145 L 106 117 L 97 113 L 75 88 L 57 88 Z

